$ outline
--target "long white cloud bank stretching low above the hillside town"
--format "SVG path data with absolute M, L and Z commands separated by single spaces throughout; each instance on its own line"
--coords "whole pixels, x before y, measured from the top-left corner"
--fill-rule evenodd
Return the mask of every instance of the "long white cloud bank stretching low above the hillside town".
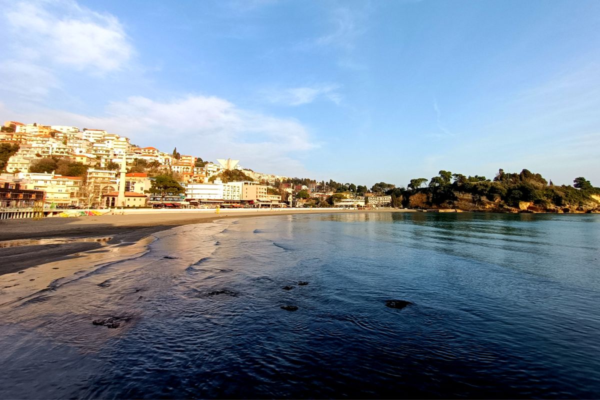
M 110 103 L 104 116 L 49 109 L 31 115 L 0 112 L 25 121 L 106 129 L 130 137 L 137 145 L 164 151 L 177 146 L 180 152 L 212 160 L 232 157 L 265 172 L 302 173 L 304 167 L 292 155 L 317 147 L 295 119 L 263 115 L 222 98 L 200 95 L 172 101 L 130 97 Z

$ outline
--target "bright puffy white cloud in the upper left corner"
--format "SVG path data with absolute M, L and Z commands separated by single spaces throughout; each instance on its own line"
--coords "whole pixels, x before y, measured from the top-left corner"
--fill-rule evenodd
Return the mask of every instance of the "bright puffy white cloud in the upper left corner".
M 92 76 L 123 70 L 134 55 L 124 28 L 73 0 L 0 1 L 4 23 L 0 86 L 21 97 L 45 96 L 59 88 L 59 76 Z

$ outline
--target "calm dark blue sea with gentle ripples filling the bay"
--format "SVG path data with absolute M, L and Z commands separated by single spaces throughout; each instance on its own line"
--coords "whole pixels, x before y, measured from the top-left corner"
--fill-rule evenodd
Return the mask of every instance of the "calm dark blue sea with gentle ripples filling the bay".
M 3 306 L 0 398 L 600 398 L 600 215 L 313 214 L 157 237 Z

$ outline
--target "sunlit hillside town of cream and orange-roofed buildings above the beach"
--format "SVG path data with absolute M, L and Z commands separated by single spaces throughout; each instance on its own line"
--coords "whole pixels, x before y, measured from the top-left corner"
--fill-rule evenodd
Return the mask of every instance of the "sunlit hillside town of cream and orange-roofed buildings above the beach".
M 101 129 L 7 121 L 0 146 L 5 158 L 0 160 L 3 209 L 383 207 L 391 203 L 390 196 L 373 196 L 366 188 L 362 193 L 356 187 L 343 191 L 326 182 L 255 172 L 229 158 L 214 163 L 179 154 L 176 148 L 167 153 L 140 147 L 128 137 Z M 165 180 L 170 184 L 165 185 Z

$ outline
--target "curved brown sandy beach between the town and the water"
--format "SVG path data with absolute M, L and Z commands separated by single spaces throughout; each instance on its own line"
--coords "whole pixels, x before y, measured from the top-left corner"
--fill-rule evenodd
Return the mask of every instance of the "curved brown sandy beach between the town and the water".
M 0 275 L 40 264 L 76 257 L 84 251 L 102 246 L 90 237 L 109 237 L 107 244 L 133 245 L 140 239 L 169 228 L 211 222 L 223 218 L 247 218 L 269 215 L 331 212 L 389 212 L 390 210 L 154 210 L 127 215 L 80 216 L 78 218 L 5 219 L 0 221 Z M 63 243 L 44 243 L 44 239 L 67 239 Z M 81 239 L 81 240 L 79 240 Z M 15 245 L 10 245 L 12 244 Z M 9 246 L 10 245 L 10 246 Z

